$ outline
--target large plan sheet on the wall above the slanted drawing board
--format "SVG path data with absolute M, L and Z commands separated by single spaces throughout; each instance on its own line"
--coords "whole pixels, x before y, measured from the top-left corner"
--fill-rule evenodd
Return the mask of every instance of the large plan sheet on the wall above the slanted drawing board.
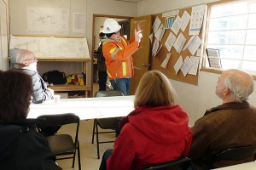
M 66 8 L 27 7 L 27 34 L 67 35 L 68 17 Z

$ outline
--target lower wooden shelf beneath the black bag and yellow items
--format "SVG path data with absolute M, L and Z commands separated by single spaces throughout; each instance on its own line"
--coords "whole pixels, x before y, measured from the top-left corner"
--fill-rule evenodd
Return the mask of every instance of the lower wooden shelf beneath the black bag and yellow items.
M 48 88 L 53 89 L 56 92 L 67 92 L 67 91 L 90 91 L 90 86 L 76 86 L 76 85 L 54 85 Z

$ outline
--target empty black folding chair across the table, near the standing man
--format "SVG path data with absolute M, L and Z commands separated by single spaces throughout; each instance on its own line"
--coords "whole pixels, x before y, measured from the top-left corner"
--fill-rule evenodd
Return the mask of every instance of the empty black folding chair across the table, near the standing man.
M 99 91 L 95 94 L 95 97 L 111 97 L 111 96 L 124 96 L 124 94 L 116 90 Z M 119 129 L 119 121 L 120 121 L 119 117 L 94 119 L 91 144 L 94 143 L 94 135 L 96 134 L 98 159 L 100 159 L 99 144 L 114 142 L 114 140 L 99 141 L 99 134 L 100 133 L 116 133 L 115 129 Z M 113 130 L 99 132 L 98 127 L 101 127 L 102 129 L 113 129 Z

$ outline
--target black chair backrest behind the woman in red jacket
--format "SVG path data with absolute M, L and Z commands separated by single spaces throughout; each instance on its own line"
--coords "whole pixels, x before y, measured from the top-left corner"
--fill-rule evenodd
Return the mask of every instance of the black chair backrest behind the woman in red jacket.
M 190 159 L 188 157 L 176 160 L 176 161 L 168 161 L 160 164 L 150 165 L 148 167 L 144 167 L 143 170 L 149 170 L 149 169 L 158 169 L 158 170 L 166 170 L 166 169 L 172 169 L 172 170 L 185 170 L 190 165 Z

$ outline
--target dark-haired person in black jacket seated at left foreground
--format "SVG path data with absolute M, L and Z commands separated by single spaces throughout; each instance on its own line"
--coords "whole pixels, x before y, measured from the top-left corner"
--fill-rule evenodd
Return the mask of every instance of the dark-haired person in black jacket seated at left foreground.
M 58 170 L 55 154 L 44 136 L 26 119 L 32 95 L 32 78 L 24 72 L 0 71 L 1 169 Z

